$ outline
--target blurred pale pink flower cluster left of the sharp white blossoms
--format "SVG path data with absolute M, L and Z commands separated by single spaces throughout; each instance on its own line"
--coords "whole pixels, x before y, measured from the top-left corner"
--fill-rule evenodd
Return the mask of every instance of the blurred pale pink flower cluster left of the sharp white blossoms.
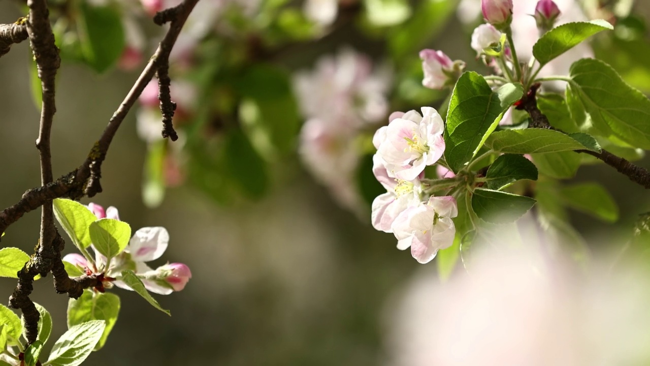
M 365 128 L 387 115 L 390 80 L 387 70 L 373 71 L 371 61 L 351 49 L 320 59 L 314 72 L 300 72 L 294 79 L 307 118 L 300 132 L 300 156 L 350 210 L 363 206 L 354 183 L 362 154 L 357 141 Z

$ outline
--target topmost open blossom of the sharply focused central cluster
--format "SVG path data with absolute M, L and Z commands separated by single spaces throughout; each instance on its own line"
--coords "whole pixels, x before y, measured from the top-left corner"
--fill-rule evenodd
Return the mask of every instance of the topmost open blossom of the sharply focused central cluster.
M 433 165 L 445 152 L 444 122 L 432 107 L 422 107 L 422 115 L 408 111 L 402 118 L 380 128 L 373 143 L 389 175 L 414 180 L 426 165 Z

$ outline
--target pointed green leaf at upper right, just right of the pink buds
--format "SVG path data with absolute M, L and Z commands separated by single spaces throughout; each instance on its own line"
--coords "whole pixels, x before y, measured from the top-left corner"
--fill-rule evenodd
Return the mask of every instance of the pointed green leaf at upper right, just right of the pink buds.
M 532 47 L 533 56 L 541 65 L 549 63 L 555 57 L 562 55 L 569 49 L 577 46 L 590 36 L 605 29 L 614 29 L 604 20 L 578 21 L 558 25 L 541 36 Z

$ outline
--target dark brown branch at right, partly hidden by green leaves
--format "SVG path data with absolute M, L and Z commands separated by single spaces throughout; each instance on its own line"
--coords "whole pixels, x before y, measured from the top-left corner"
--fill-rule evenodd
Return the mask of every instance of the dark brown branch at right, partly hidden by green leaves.
M 536 95 L 539 89 L 539 83 L 532 85 L 528 94 L 521 99 L 521 103 L 517 105 L 517 109 L 524 109 L 530 115 L 532 122 L 529 126 L 534 128 L 548 128 L 550 130 L 556 130 L 551 126 L 549 119 L 541 113 L 537 107 Z M 650 171 L 638 165 L 630 163 L 628 160 L 619 158 L 618 156 L 608 152 L 607 150 L 601 149 L 601 152 L 595 152 L 591 150 L 576 150 L 576 152 L 582 152 L 583 154 L 589 154 L 594 156 L 598 160 L 603 161 L 610 167 L 616 169 L 619 173 L 627 176 L 640 186 L 650 189 Z

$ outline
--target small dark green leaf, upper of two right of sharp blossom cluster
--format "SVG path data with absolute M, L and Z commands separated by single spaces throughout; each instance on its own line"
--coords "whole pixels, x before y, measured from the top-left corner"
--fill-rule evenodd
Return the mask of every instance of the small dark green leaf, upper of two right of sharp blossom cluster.
M 537 168 L 521 155 L 504 154 L 487 169 L 486 179 L 487 188 L 499 191 L 517 180 L 537 180 Z

